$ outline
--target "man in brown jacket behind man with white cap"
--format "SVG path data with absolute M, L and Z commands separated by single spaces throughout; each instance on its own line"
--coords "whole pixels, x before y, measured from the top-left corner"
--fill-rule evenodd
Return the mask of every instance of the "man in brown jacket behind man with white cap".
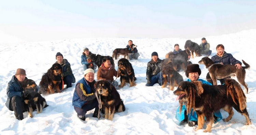
M 114 78 L 113 78 L 114 76 L 119 77 L 120 71 L 118 71 L 117 73 L 117 71 L 115 70 L 115 67 L 112 66 L 110 61 L 111 61 L 110 56 L 103 58 L 103 63 L 101 64 L 101 66 L 97 71 L 97 81 L 100 81 L 100 80 L 109 81 L 116 89 L 120 89 L 118 87 L 118 82 L 114 81 Z

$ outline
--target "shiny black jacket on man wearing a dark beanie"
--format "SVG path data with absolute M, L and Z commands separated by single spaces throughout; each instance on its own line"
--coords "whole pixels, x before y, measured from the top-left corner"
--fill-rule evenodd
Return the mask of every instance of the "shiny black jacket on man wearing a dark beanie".
M 157 58 L 156 62 L 151 59 L 151 61 L 147 63 L 147 80 L 150 79 L 152 76 L 157 75 L 162 70 L 161 62 L 162 60 Z

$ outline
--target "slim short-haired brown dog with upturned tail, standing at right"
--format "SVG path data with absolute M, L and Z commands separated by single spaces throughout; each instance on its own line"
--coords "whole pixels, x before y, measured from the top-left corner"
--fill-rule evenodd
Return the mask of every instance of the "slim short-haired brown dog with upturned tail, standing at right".
M 248 86 L 245 83 L 245 69 L 250 68 L 250 65 L 242 60 L 245 67 L 237 69 L 234 65 L 215 64 L 209 57 L 203 57 L 198 63 L 205 65 L 208 68 L 213 85 L 217 85 L 217 79 L 223 79 L 229 76 L 236 76 L 240 84 L 245 88 L 245 93 L 248 94 Z

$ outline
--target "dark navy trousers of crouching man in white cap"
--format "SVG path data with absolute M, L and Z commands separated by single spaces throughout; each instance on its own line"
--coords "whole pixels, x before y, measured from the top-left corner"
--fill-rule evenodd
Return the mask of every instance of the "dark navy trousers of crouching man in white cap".
M 96 98 L 94 99 L 94 101 L 91 104 L 85 104 L 85 105 L 82 106 L 82 108 L 74 106 L 75 112 L 78 115 L 82 115 L 82 116 L 85 116 L 87 111 L 90 111 L 94 108 L 99 108 L 99 103 L 98 103 Z

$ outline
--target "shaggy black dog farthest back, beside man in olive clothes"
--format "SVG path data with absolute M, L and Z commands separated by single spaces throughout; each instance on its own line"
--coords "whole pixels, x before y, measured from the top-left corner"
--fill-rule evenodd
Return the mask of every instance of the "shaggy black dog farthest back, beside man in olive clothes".
M 200 46 L 197 43 L 192 42 L 191 40 L 186 41 L 184 48 L 186 50 L 191 51 L 192 58 L 194 58 L 194 52 L 195 52 L 196 56 L 198 56 L 198 57 L 201 56 L 202 49 L 200 48 Z

